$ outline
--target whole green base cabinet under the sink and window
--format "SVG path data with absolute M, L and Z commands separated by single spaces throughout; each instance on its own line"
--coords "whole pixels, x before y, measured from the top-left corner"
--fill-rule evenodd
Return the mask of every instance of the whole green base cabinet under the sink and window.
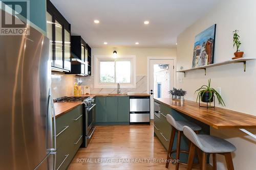
M 97 96 L 96 124 L 129 123 L 129 96 Z

